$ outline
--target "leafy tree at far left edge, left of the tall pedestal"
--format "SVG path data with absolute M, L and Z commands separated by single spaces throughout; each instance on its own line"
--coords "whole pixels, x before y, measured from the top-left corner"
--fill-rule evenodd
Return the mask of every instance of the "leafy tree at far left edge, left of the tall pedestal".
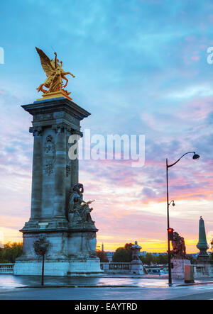
M 0 263 L 14 263 L 22 254 L 22 242 L 8 242 L 0 249 Z

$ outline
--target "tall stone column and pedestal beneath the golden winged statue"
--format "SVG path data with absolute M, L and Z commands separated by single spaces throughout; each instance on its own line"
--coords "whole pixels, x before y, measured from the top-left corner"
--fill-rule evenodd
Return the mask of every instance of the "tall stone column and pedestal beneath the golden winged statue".
M 68 203 L 78 183 L 78 160 L 70 160 L 70 135 L 80 135 L 80 120 L 89 116 L 64 97 L 22 106 L 33 116 L 34 137 L 31 218 L 20 230 L 23 255 L 16 259 L 14 274 L 40 275 L 41 258 L 33 243 L 45 235 L 50 249 L 45 254 L 45 275 L 93 276 L 102 274 L 96 249 L 94 224 L 70 225 Z

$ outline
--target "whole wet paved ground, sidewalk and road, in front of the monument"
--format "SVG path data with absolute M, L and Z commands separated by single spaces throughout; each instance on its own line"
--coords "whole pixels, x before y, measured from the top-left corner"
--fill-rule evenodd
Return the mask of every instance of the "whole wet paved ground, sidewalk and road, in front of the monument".
M 47 284 L 62 279 L 46 279 Z M 168 287 L 165 279 L 101 278 L 65 279 L 78 287 L 23 288 L 35 284 L 38 277 L 0 275 L 0 300 L 211 300 L 213 284 Z M 88 285 L 93 284 L 93 287 Z M 94 286 L 96 284 L 96 287 Z M 113 284 L 102 287 L 103 284 Z M 80 287 L 82 285 L 82 287 Z M 84 285 L 84 287 L 83 287 Z M 87 286 L 87 287 L 86 287 Z M 116 287 L 119 286 L 119 287 Z M 18 288 L 17 288 L 18 287 Z

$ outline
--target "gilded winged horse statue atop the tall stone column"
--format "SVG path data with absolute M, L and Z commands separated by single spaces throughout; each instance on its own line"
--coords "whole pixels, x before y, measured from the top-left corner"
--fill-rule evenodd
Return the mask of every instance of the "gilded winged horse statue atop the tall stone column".
M 45 82 L 43 84 L 40 84 L 37 90 L 43 92 L 44 98 L 51 98 L 55 96 L 65 96 L 68 99 L 71 99 L 68 96 L 71 93 L 69 93 L 68 91 L 64 89 L 68 83 L 68 79 L 66 75 L 70 74 L 72 77 L 75 77 L 75 76 L 72 73 L 65 72 L 62 69 L 62 61 L 59 62 L 56 52 L 54 52 L 55 59 L 50 60 L 49 57 L 45 55 L 45 53 L 42 50 L 40 50 L 38 47 L 35 47 L 35 49 L 38 52 L 38 55 L 40 57 L 40 63 L 47 76 L 47 79 L 45 80 Z M 65 84 L 63 83 L 63 80 L 65 80 Z M 48 90 L 43 89 L 44 86 Z

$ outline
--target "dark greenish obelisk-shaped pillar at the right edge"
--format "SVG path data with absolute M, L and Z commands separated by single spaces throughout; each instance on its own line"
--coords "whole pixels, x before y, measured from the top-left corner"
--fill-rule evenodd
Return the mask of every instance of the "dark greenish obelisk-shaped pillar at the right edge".
M 200 250 L 200 253 L 197 257 L 197 262 L 199 264 L 207 264 L 209 263 L 209 255 L 207 253 L 207 249 L 209 249 L 209 245 L 207 245 L 207 237 L 205 232 L 204 220 L 200 217 L 199 222 L 199 241 L 197 243 L 197 249 Z

